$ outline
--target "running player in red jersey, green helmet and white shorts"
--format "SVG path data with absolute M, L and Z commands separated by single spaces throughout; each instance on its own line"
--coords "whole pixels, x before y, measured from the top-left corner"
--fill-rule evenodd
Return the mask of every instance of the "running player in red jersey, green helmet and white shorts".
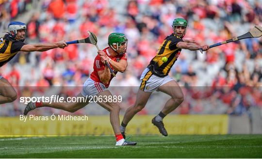
M 90 97 L 97 96 L 113 96 L 107 88 L 109 87 L 110 81 L 113 79 L 113 75 L 110 73 L 110 69 L 105 65 L 107 61 L 111 68 L 117 72 L 124 72 L 127 68 L 127 38 L 123 33 L 111 33 L 108 36 L 109 47 L 99 50 L 98 55 L 94 61 L 94 71 L 91 73 L 90 78 L 88 78 L 83 85 L 82 92 L 78 97 Z M 106 99 L 106 98 L 104 98 Z M 29 111 L 32 111 L 39 107 L 51 107 L 56 109 L 61 109 L 69 112 L 75 112 L 89 103 L 89 100 L 81 102 L 30 102 L 24 110 L 24 115 L 27 115 Z M 105 108 L 110 112 L 110 123 L 115 132 L 116 144 L 115 145 L 135 145 L 135 142 L 125 141 L 120 132 L 120 122 L 119 122 L 119 111 L 120 107 L 115 102 L 110 102 L 110 100 L 102 100 L 102 102 L 97 102 L 101 107 Z

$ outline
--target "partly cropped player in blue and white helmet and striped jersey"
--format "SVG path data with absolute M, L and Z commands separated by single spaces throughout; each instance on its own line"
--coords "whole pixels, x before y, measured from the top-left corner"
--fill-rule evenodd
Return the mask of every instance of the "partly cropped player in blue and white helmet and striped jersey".
M 19 51 L 47 51 L 52 48 L 65 48 L 65 41 L 48 44 L 25 44 L 26 24 L 13 21 L 8 25 L 8 34 L 0 38 L 0 67 L 13 59 Z M 8 80 L 0 75 L 0 104 L 16 100 L 17 94 Z

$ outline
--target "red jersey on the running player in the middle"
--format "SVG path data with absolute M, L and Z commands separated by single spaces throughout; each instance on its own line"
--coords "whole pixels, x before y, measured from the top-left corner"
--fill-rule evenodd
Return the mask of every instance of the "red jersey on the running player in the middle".
M 122 55 L 119 55 L 119 54 L 118 54 L 118 55 L 116 55 L 115 57 L 112 57 L 112 56 L 110 56 L 110 54 L 109 54 L 109 52 L 108 52 L 108 48 L 109 48 L 109 47 L 103 49 L 103 51 L 107 54 L 107 56 L 108 56 L 111 60 L 113 60 L 113 61 L 115 61 L 115 62 L 119 62 L 120 60 L 127 60 L 127 53 L 124 53 L 124 54 L 122 54 Z M 112 66 L 110 66 L 110 67 L 113 69 L 113 71 L 115 71 Z M 99 76 L 98 76 L 98 71 L 104 70 L 104 69 L 105 69 L 105 64 L 103 64 L 103 63 L 101 62 L 101 58 L 100 58 L 99 55 L 97 55 L 97 57 L 95 58 L 94 67 L 93 67 L 93 68 L 94 68 L 94 71 L 91 73 L 90 78 L 93 79 L 93 80 L 96 81 L 96 82 L 103 83 L 103 82 L 100 80 Z M 117 71 L 115 71 L 115 74 L 116 74 L 116 73 L 117 73 Z M 111 74 L 111 78 L 110 78 L 108 84 L 104 84 L 104 83 L 103 83 L 106 88 L 109 87 L 110 81 L 111 81 L 113 78 L 114 78 L 114 76 Z

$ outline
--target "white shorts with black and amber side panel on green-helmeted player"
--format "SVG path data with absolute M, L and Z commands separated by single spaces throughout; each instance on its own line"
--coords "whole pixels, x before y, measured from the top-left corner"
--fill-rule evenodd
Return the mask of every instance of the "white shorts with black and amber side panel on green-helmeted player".
M 169 76 L 158 77 L 154 75 L 148 68 L 146 68 L 140 78 L 140 90 L 144 92 L 154 92 L 157 91 L 158 88 L 165 83 L 174 80 Z

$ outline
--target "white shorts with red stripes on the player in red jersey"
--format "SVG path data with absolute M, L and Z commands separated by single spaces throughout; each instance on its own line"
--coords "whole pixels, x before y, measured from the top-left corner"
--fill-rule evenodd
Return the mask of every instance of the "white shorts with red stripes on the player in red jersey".
M 84 97 L 89 96 L 89 95 L 94 96 L 105 90 L 107 90 L 107 88 L 105 87 L 103 83 L 96 82 L 93 79 L 88 78 L 83 84 L 81 94 Z

